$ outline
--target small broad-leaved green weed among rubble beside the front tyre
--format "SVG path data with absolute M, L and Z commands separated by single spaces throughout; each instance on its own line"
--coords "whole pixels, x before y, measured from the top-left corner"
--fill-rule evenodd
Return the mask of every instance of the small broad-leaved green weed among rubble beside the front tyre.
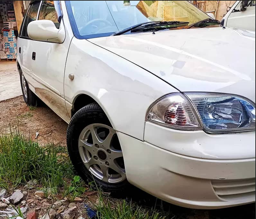
M 63 196 L 67 197 L 67 200 L 71 203 L 76 197 L 81 196 L 86 191 L 86 188 L 81 186 L 81 179 L 79 176 L 75 176 L 72 181 L 65 183 L 65 190 Z

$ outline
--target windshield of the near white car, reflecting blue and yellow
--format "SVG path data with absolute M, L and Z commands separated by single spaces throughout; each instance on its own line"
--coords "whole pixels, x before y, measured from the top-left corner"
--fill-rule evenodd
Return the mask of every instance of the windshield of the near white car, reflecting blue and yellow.
M 210 18 L 188 1 L 66 1 L 78 38 L 109 36 L 150 21 L 181 21 L 188 25 Z

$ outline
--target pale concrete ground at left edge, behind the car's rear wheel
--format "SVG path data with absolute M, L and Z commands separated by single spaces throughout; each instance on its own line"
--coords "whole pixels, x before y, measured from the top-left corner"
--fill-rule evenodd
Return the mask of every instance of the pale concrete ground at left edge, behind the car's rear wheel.
M 0 101 L 22 95 L 15 61 L 0 62 Z

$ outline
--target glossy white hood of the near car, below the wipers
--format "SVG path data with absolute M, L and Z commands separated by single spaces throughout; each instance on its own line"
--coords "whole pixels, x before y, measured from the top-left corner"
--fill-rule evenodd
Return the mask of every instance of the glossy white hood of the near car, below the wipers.
M 194 28 L 89 39 L 181 92 L 221 92 L 255 102 L 255 32 Z

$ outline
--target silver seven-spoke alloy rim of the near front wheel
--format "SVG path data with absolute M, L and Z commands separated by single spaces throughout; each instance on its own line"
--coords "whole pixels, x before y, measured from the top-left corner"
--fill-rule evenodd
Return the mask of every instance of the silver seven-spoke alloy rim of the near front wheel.
M 96 178 L 107 183 L 118 183 L 126 179 L 123 153 L 111 127 L 90 124 L 79 135 L 78 148 L 86 168 Z

